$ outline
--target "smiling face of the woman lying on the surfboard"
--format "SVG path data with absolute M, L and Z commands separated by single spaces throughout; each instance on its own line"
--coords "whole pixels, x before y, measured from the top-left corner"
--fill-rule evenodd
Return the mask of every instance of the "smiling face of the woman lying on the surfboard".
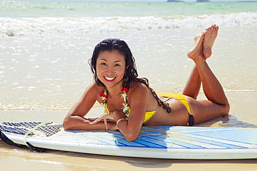
M 97 57 L 97 77 L 108 88 L 122 87 L 125 68 L 124 55 L 119 51 L 103 51 Z

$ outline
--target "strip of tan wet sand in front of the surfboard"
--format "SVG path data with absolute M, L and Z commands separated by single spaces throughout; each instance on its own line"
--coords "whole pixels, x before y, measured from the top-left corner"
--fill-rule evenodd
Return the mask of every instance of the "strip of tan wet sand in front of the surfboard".
M 3 143 L 1 146 L 6 147 Z M 140 159 L 48 150 L 35 153 L 6 147 L 0 154 L 3 170 L 256 170 L 257 160 Z M 12 153 L 15 154 L 13 155 Z M 15 165 L 13 165 L 15 163 Z

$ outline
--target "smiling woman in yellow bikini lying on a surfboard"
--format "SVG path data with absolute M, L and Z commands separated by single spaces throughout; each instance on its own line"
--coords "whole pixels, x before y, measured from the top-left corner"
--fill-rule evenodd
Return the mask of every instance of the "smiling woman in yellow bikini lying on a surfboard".
M 189 125 L 229 114 L 229 102 L 206 59 L 217 37 L 218 26 L 210 26 L 194 37 L 188 57 L 195 63 L 183 94 L 160 93 L 138 78 L 135 61 L 126 42 L 105 39 L 94 48 L 90 66 L 94 82 L 63 121 L 65 129 L 117 130 L 127 141 L 135 141 L 142 125 Z M 197 100 L 203 85 L 208 100 Z M 92 120 L 84 116 L 95 102 L 106 114 Z

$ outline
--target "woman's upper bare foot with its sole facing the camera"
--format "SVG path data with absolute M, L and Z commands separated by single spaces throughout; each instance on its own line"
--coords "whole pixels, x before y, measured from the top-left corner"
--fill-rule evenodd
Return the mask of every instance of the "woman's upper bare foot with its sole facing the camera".
M 207 59 L 212 54 L 211 48 L 213 48 L 213 44 L 217 37 L 217 31 L 219 30 L 219 26 L 213 25 L 206 29 L 204 32 L 204 57 Z

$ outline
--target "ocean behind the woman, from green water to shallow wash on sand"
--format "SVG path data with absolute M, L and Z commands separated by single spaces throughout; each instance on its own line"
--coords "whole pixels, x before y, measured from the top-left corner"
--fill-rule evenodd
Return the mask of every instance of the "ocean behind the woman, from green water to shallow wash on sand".
M 156 91 L 181 92 L 192 37 L 212 24 L 226 34 L 217 39 L 213 60 L 224 89 L 256 91 L 256 9 L 256 2 L 1 1 L 0 109 L 69 109 L 92 81 L 94 46 L 110 37 L 128 43 L 139 75 Z M 235 53 L 238 48 L 253 54 Z M 254 60 L 247 69 L 245 57 Z

